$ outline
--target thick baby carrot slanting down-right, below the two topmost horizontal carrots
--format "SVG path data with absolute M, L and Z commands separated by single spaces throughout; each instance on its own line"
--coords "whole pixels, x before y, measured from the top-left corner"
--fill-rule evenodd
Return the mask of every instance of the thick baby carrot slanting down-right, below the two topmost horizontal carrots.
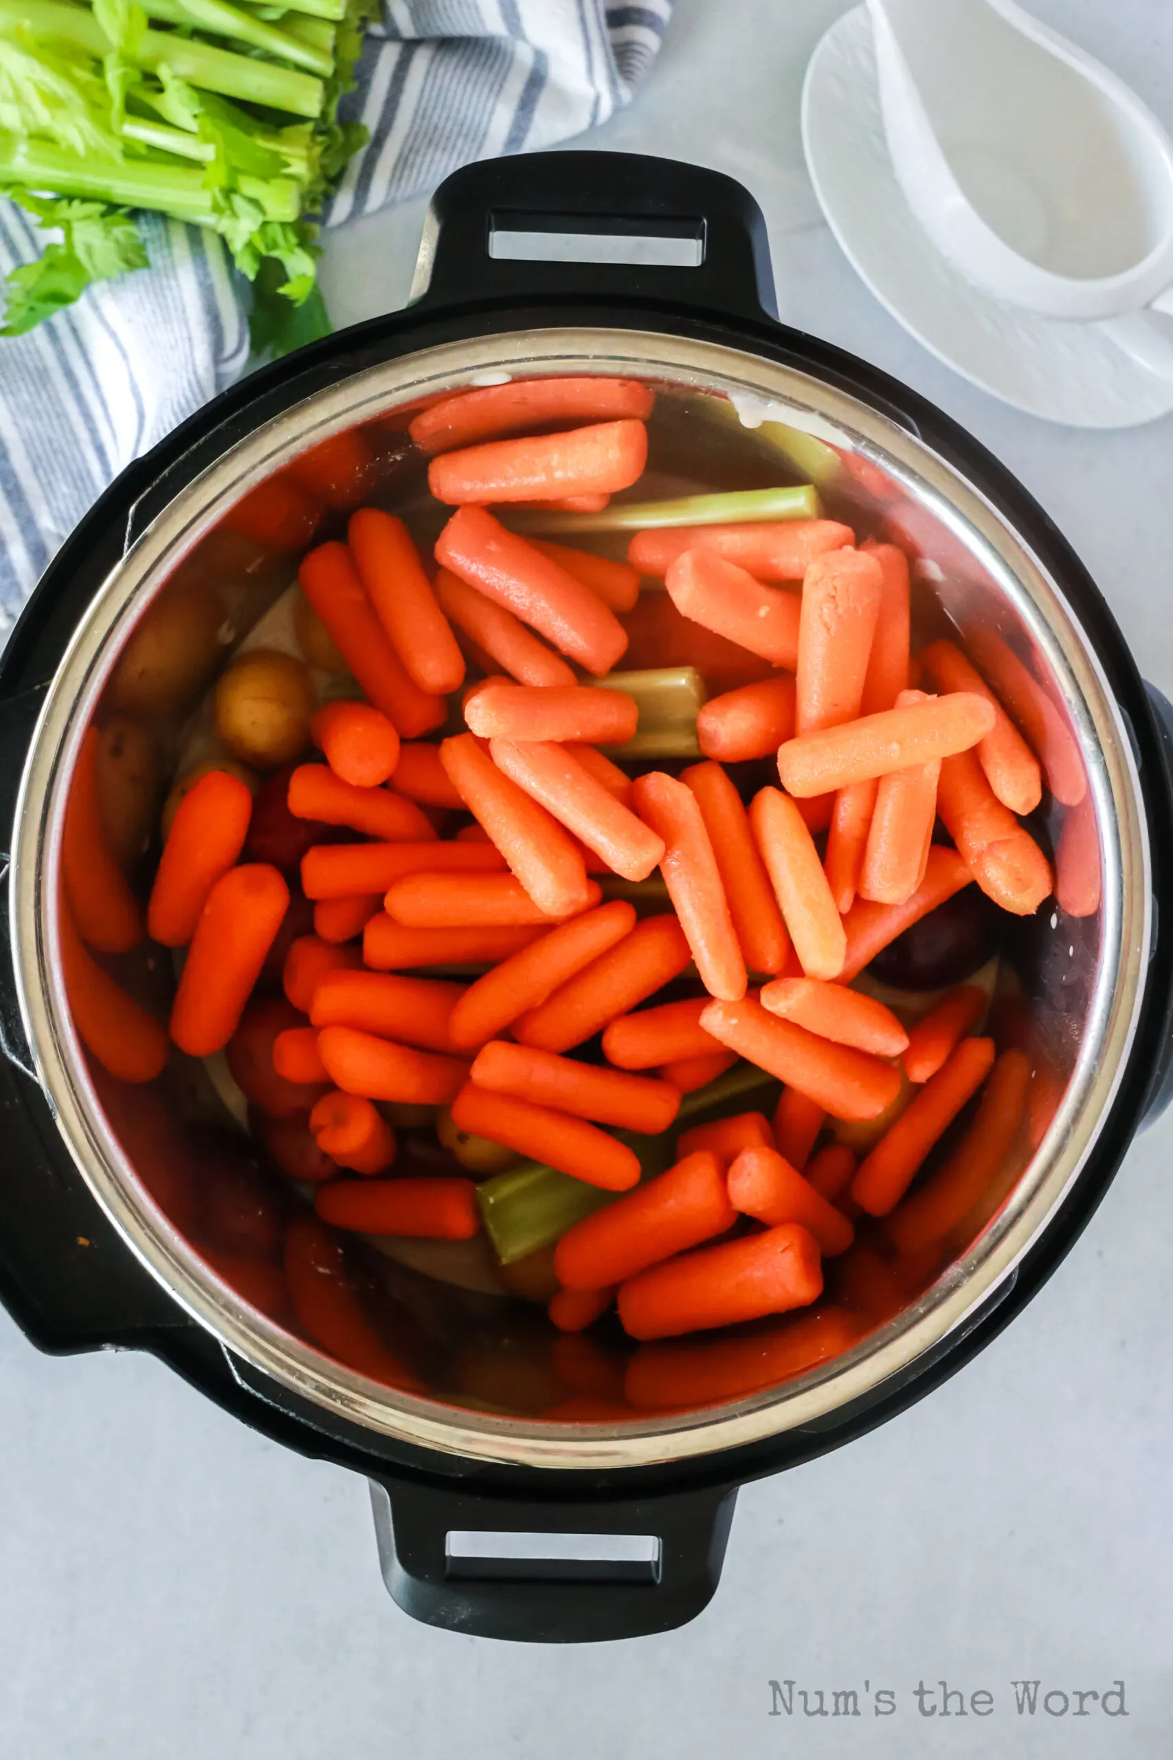
M 452 516 L 436 539 L 436 561 L 531 625 L 587 672 L 610 672 L 628 646 L 614 611 L 589 586 L 508 532 L 484 507 L 463 507 Z

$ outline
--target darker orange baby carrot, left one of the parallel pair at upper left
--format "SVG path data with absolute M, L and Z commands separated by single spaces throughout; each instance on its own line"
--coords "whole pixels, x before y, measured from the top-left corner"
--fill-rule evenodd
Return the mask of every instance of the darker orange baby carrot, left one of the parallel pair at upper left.
M 440 727 L 443 697 L 420 690 L 390 646 L 345 544 L 320 544 L 302 558 L 297 583 L 366 697 L 404 739 Z

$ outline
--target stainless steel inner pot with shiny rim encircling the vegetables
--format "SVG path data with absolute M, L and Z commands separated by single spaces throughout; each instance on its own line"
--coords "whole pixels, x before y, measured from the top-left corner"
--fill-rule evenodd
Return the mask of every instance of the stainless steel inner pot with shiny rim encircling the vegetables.
M 292 561 L 253 567 L 253 556 L 246 567 L 237 554 L 232 563 L 220 523 L 234 503 L 341 429 L 505 373 L 645 377 L 659 389 L 652 454 L 663 440 L 674 470 L 721 486 L 749 468 L 758 482 L 770 473 L 776 480 L 812 477 L 832 516 L 862 533 L 899 533 L 920 558 L 922 614 L 944 616 L 962 630 L 999 632 L 1078 743 L 1101 854 L 1094 917 L 1060 919 L 1048 901 L 1016 926 L 1009 943 L 1020 1042 L 1046 1063 L 1062 1098 L 1038 1146 L 1024 1140 L 1015 1151 L 992 1193 L 992 1214 L 974 1223 L 973 1237 L 955 1243 L 929 1285 L 841 1357 L 725 1404 L 633 1410 L 630 1420 L 605 1424 L 545 1422 L 533 1410 L 510 1408 L 508 1364 L 517 1345 L 501 1325 L 499 1304 L 492 1309 L 487 1297 L 468 1299 L 404 1274 L 383 1308 L 373 1299 L 371 1313 L 394 1341 L 403 1327 L 443 1332 L 447 1322 L 434 1316 L 450 1302 L 461 1327 L 478 1331 L 487 1360 L 503 1368 L 496 1399 L 461 1394 L 443 1380 L 429 1397 L 389 1389 L 248 1306 L 186 1237 L 181 1206 L 169 1199 L 169 1167 L 190 1153 L 200 1123 L 225 1119 L 220 1102 L 178 1056 L 149 1089 L 95 1070 L 72 1028 L 58 959 L 62 818 L 79 741 L 104 713 L 120 655 L 148 607 L 183 593 L 211 567 L 225 612 L 222 665 L 294 574 Z M 387 456 L 394 465 L 394 445 Z M 390 470 L 385 505 L 396 507 L 401 493 Z M 158 706 L 149 727 L 160 748 L 171 750 L 190 708 L 190 700 Z M 1048 813 L 1055 836 L 1057 810 Z M 153 519 L 93 598 L 49 688 L 19 799 L 12 940 L 28 1042 L 77 1167 L 139 1258 L 237 1359 L 322 1413 L 429 1450 L 550 1470 L 630 1468 L 809 1426 L 879 1389 L 1011 1278 L 1089 1156 L 1127 1058 L 1148 957 L 1148 859 L 1129 734 L 1062 584 L 957 468 L 871 405 L 747 350 L 637 329 L 549 327 L 447 343 L 341 378 L 232 445 Z M 165 991 L 167 972 L 141 970 L 139 982 Z M 538 1352 L 535 1329 L 526 1322 L 524 1331 L 524 1350 Z

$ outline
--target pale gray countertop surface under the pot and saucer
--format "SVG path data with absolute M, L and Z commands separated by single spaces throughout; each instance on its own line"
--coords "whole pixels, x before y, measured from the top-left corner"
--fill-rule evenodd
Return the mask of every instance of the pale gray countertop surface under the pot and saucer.
M 677 0 L 638 102 L 582 144 L 742 178 L 770 222 L 783 317 L 907 380 L 1004 459 L 1173 693 L 1173 421 L 1075 433 L 1002 408 L 856 282 L 820 224 L 797 123 L 807 55 L 842 11 Z M 1173 121 L 1168 0 L 1034 11 Z M 420 213 L 331 238 L 338 322 L 403 301 Z M 746 1489 L 709 1612 L 626 1646 L 543 1651 L 413 1624 L 383 1591 L 359 1478 L 259 1440 L 151 1360 L 40 1357 L 0 1315 L 0 1755 L 1168 1756 L 1171 1151 L 1173 1116 L 958 1378 Z M 793 1714 L 770 1681 L 795 1683 Z M 944 1730 L 941 1681 L 965 1695 Z M 1015 1681 L 1041 1683 L 1034 1714 Z M 1085 1697 L 1076 1718 L 1069 1697 L 1062 1714 L 1064 1695 L 1115 1681 L 1124 1705 Z M 920 1683 L 936 1697 L 918 1704 Z M 855 1688 L 862 1714 L 804 1716 L 804 1688 L 828 1712 L 834 1690 Z M 881 1690 L 892 1714 L 878 1714 Z

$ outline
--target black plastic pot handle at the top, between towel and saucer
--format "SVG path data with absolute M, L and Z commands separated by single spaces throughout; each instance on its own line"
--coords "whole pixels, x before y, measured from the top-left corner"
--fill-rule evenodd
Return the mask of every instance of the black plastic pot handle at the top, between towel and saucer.
M 696 262 L 547 262 L 508 234 L 654 239 Z M 412 289 L 427 306 L 480 299 L 647 297 L 723 317 L 777 317 L 765 218 L 719 171 L 640 153 L 522 153 L 454 171 L 431 199 Z

